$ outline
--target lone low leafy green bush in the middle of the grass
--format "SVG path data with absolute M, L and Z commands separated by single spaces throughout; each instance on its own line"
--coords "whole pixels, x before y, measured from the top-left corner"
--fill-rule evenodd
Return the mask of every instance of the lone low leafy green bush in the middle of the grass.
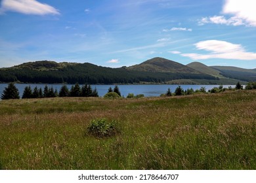
M 108 121 L 105 118 L 91 120 L 87 127 L 87 133 L 95 137 L 111 137 L 119 133 L 117 122 L 115 120 Z

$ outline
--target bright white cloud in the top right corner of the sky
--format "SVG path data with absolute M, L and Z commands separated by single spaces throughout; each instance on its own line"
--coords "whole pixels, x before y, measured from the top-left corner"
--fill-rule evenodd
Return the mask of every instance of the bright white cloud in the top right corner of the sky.
M 224 25 L 246 25 L 256 27 L 255 2 L 252 0 L 226 0 L 223 5 L 223 14 L 232 15 L 230 18 L 224 16 L 209 16 L 202 18 L 198 24 L 224 24 Z

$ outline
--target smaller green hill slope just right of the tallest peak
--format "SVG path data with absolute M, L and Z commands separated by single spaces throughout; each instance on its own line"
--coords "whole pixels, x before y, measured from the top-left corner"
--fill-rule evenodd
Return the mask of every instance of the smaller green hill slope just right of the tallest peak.
M 208 67 L 207 65 L 204 65 L 203 63 L 197 61 L 189 63 L 186 66 L 191 67 L 192 69 L 195 69 L 196 71 L 200 71 L 201 73 L 205 73 L 207 75 L 224 78 L 224 76 L 221 75 L 221 71 Z

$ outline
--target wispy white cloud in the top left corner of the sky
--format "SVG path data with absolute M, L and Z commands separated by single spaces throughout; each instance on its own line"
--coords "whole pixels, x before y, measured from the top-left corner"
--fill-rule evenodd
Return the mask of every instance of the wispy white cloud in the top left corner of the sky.
M 60 14 L 56 8 L 35 0 L 3 0 L 0 13 L 3 14 L 6 11 L 37 15 Z

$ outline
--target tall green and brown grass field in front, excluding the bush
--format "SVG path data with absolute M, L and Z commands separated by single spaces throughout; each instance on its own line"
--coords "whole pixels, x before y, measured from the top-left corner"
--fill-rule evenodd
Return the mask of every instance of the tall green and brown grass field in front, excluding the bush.
M 87 135 L 91 120 L 114 137 Z M 256 91 L 0 101 L 0 169 L 256 169 Z

